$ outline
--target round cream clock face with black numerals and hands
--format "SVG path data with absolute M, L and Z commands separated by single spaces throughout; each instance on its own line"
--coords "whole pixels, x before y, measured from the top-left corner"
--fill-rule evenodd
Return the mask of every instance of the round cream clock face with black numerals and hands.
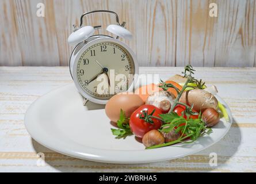
M 79 85 L 91 97 L 109 99 L 127 91 L 133 82 L 135 64 L 122 45 L 104 41 L 91 45 L 79 57 Z

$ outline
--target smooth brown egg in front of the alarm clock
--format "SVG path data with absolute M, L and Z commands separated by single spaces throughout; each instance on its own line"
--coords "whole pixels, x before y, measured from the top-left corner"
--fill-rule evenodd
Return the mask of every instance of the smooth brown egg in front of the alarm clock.
M 123 109 L 125 115 L 129 117 L 142 105 L 144 105 L 144 101 L 137 94 L 116 94 L 109 99 L 105 112 L 111 121 L 117 122 L 120 117 L 120 109 Z

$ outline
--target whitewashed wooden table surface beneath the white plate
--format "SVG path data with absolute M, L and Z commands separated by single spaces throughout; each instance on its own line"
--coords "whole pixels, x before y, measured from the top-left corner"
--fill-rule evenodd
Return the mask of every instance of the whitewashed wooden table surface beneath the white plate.
M 152 172 L 256 171 L 256 68 L 196 68 L 197 78 L 217 86 L 230 106 L 233 124 L 218 143 L 184 158 L 148 164 L 89 162 L 51 151 L 33 140 L 24 126 L 26 109 L 48 91 L 72 82 L 68 67 L 0 67 L 0 171 Z M 140 67 L 140 74 L 167 79 L 182 68 Z M 43 152 L 45 165 L 37 164 Z M 217 154 L 217 167 L 209 154 Z

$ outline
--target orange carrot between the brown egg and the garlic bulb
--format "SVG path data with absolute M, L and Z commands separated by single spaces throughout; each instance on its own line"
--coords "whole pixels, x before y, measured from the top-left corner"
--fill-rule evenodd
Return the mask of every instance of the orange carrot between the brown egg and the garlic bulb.
M 151 83 L 150 85 L 145 85 L 142 87 L 139 87 L 135 90 L 135 94 L 138 94 L 140 96 L 140 98 L 142 98 L 142 100 L 144 102 L 146 102 L 147 97 L 154 93 L 155 91 L 161 91 L 162 88 L 159 88 L 158 85 L 155 85 L 154 83 Z

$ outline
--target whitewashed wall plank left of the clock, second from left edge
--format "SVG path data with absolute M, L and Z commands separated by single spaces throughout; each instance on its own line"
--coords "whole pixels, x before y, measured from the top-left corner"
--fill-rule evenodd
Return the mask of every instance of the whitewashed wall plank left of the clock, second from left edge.
M 14 1 L 17 42 L 23 66 L 59 66 L 53 1 Z M 37 17 L 37 3 L 44 3 L 45 17 Z

